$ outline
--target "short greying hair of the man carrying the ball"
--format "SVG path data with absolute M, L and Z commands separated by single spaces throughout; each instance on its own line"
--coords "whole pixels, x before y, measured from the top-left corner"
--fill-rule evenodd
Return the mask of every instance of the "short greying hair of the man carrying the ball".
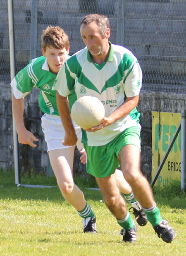
M 102 37 L 105 38 L 107 29 L 110 29 L 108 18 L 104 15 L 89 14 L 82 19 L 81 25 L 82 24 L 88 25 L 91 22 L 95 22 L 98 25 L 100 32 L 102 34 Z

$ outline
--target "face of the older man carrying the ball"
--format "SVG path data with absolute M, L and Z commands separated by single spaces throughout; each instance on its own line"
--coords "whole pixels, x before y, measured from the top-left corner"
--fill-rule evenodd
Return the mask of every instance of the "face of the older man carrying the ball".
M 95 22 L 91 22 L 88 25 L 82 24 L 80 32 L 83 42 L 87 46 L 91 55 L 101 56 L 107 53 L 107 43 L 110 36 L 110 29 L 107 29 L 105 38 L 103 38 L 98 25 Z

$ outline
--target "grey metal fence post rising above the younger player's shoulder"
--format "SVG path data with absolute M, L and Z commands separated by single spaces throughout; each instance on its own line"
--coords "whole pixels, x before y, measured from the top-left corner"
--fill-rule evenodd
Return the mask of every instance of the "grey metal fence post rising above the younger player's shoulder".
M 37 55 L 38 0 L 32 0 L 30 59 Z

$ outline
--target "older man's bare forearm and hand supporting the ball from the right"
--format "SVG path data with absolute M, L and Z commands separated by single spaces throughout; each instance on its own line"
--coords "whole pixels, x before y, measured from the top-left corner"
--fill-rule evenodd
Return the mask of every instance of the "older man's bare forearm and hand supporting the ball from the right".
M 100 125 L 92 127 L 91 129 L 86 129 L 86 131 L 95 132 L 110 124 L 113 124 L 120 118 L 128 115 L 138 105 L 138 101 L 139 95 L 136 95 L 134 97 L 127 97 L 125 102 L 119 108 L 117 108 L 109 117 L 103 117 L 103 121 Z

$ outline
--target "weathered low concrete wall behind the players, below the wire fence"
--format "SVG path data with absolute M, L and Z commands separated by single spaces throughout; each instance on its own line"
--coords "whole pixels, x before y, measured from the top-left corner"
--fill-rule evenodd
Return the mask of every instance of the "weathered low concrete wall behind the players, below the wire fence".
M 0 83 L 0 167 L 7 169 L 14 166 L 11 88 L 7 83 Z M 22 172 L 34 171 L 47 173 L 48 153 L 41 130 L 42 112 L 38 106 L 38 89 L 34 89 L 25 98 L 24 122 L 39 141 L 37 148 L 21 145 L 20 167 Z M 186 109 L 186 94 L 141 91 L 138 110 L 141 112 L 141 170 L 151 179 L 152 169 L 152 115 L 151 111 L 178 112 Z M 79 163 L 76 151 L 74 172 L 85 175 L 85 166 Z

